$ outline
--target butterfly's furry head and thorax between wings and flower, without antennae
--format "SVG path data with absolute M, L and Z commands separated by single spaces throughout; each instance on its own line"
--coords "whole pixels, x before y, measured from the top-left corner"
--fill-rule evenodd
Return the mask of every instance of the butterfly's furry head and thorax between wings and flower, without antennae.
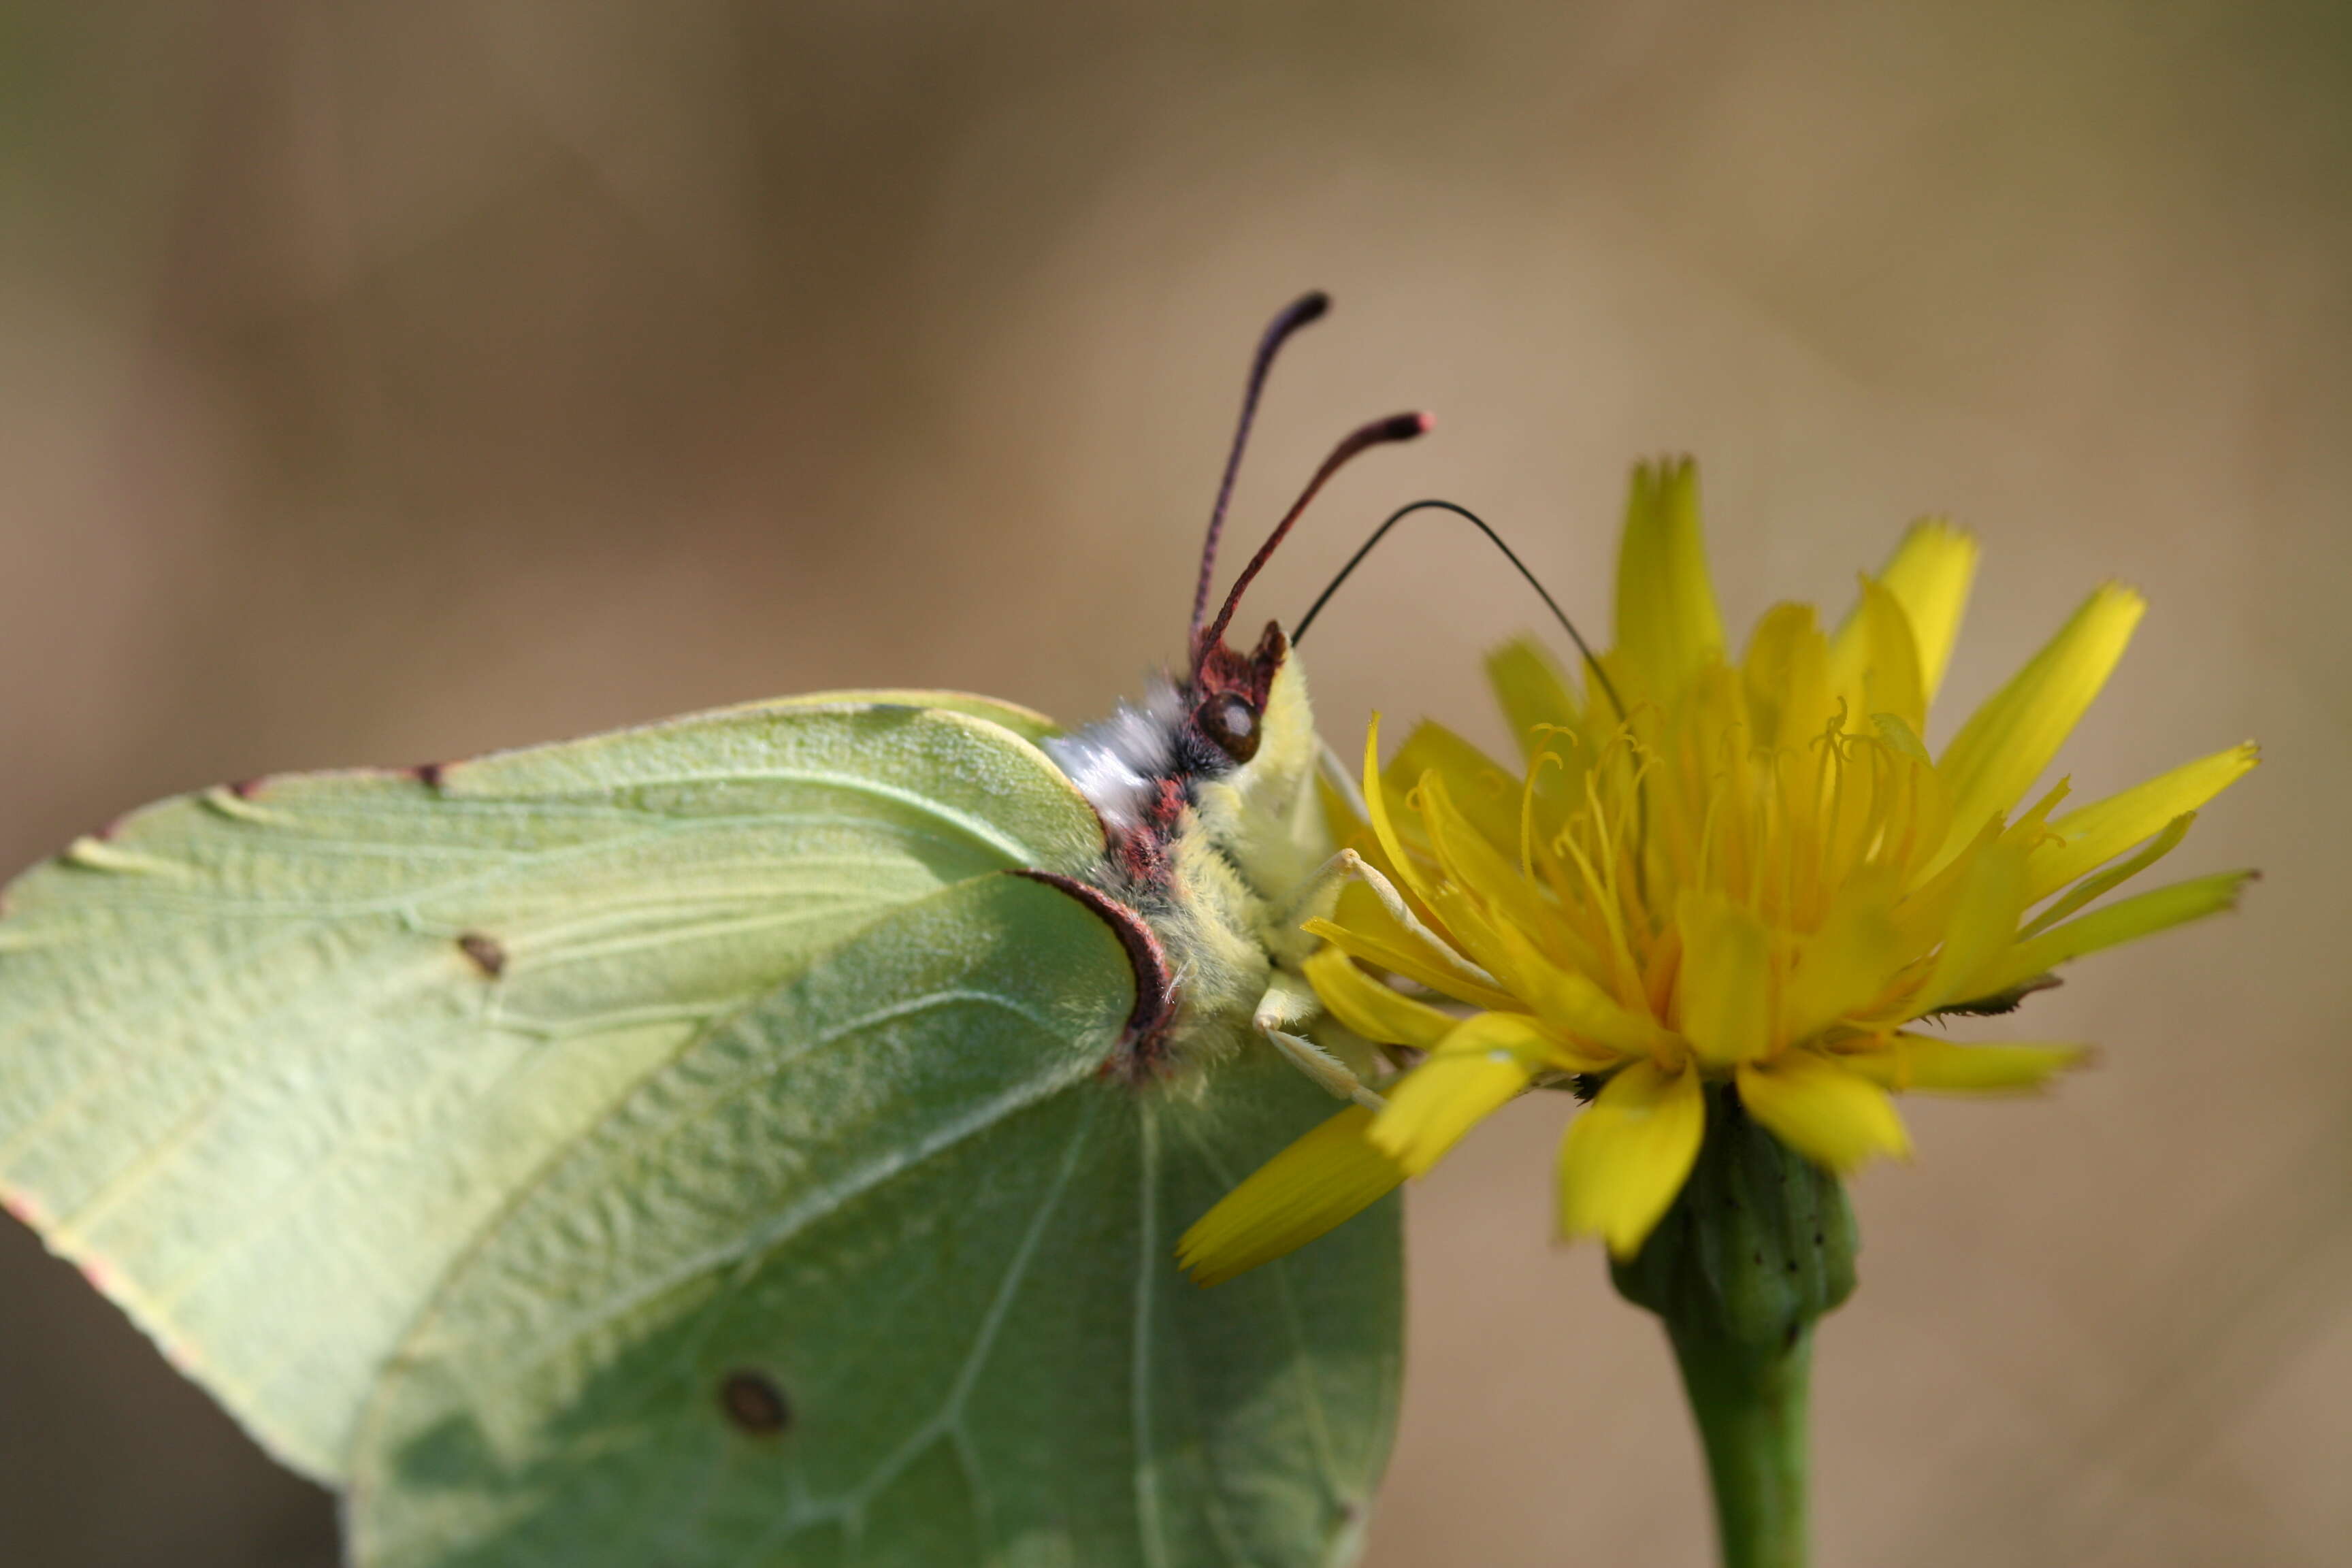
M 1272 971 L 1312 947 L 1294 903 L 1331 839 L 1305 675 L 1268 625 L 1251 654 L 1221 644 L 1190 679 L 1160 677 L 1047 750 L 1103 820 L 1089 882 L 1141 922 L 1167 983 L 1117 1065 L 1181 1079 L 1235 1051 Z

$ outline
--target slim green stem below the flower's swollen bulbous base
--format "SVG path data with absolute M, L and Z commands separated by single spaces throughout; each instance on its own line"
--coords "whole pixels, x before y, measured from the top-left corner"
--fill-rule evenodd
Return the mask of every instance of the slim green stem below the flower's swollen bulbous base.
M 1670 1324 L 1715 1483 L 1724 1568 L 1804 1568 L 1804 1403 L 1813 1331 L 1783 1347 Z

